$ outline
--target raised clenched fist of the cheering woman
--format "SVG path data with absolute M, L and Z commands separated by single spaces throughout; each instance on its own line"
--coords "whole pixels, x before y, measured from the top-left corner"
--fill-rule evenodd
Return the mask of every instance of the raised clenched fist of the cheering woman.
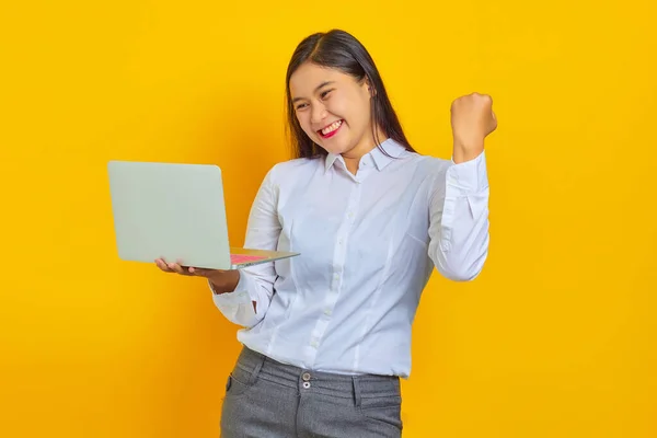
M 454 161 L 476 158 L 484 150 L 484 139 L 497 128 L 493 99 L 472 93 L 461 96 L 451 105 L 451 127 L 454 139 Z

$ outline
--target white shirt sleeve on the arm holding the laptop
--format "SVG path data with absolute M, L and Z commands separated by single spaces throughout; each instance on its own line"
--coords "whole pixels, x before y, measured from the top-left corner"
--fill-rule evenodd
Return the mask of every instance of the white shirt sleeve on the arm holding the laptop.
M 277 247 L 281 227 L 276 214 L 278 187 L 272 181 L 272 173 L 273 170 L 265 176 L 251 207 L 246 249 L 275 251 Z M 273 262 L 242 268 L 232 292 L 216 293 L 210 284 L 215 306 L 229 321 L 244 327 L 254 326 L 269 308 L 276 277 Z

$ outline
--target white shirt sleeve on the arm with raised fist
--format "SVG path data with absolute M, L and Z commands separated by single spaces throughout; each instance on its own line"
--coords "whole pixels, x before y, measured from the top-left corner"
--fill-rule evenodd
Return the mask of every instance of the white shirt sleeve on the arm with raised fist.
M 446 278 L 469 281 L 488 255 L 486 157 L 456 164 L 435 180 L 429 199 L 429 257 Z

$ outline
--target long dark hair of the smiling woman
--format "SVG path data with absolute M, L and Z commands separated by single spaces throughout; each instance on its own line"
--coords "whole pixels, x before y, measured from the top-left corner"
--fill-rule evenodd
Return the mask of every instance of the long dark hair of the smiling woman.
M 378 127 L 385 136 L 392 138 L 407 150 L 415 152 L 408 143 L 402 125 L 396 116 L 381 74 L 374 65 L 374 60 L 365 46 L 353 35 L 345 31 L 332 30 L 326 33 L 315 33 L 307 36 L 295 49 L 287 69 L 286 76 L 286 104 L 288 117 L 288 130 L 296 158 L 318 158 L 326 155 L 323 148 L 316 146 L 301 129 L 295 112 L 295 105 L 290 94 L 290 78 L 304 62 L 316 66 L 335 68 L 344 73 L 350 74 L 357 81 L 368 80 L 371 87 L 371 117 L 372 134 L 377 147 L 381 149 Z M 381 149 L 382 150 L 382 149 Z M 382 150 L 385 153 L 384 150 Z

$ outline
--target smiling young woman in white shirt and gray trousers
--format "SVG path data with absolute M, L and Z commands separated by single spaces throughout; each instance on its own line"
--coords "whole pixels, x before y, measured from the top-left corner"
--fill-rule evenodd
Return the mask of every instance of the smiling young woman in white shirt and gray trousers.
M 264 178 L 245 247 L 301 255 L 229 272 L 157 264 L 207 278 L 244 327 L 222 437 L 399 437 L 422 290 L 434 267 L 471 280 L 487 255 L 492 100 L 457 99 L 452 159 L 420 155 L 368 51 L 331 31 L 297 47 L 287 103 L 297 158 Z

